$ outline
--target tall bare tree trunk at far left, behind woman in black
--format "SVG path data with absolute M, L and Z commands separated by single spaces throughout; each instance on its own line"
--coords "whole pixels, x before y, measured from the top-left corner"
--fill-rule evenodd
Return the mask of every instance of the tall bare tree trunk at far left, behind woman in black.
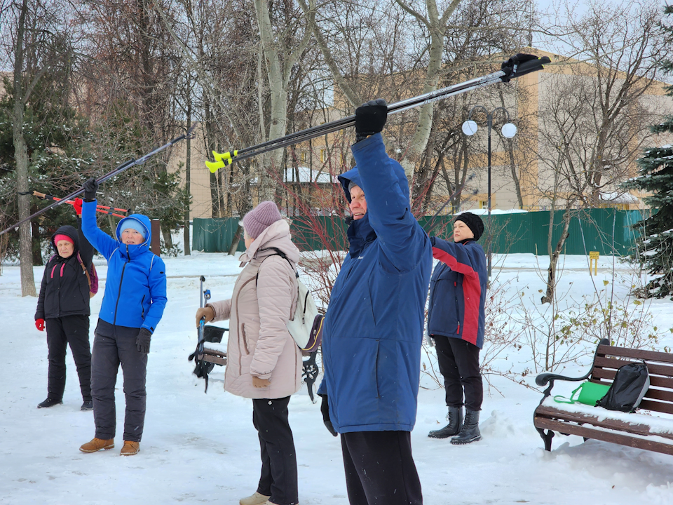
M 19 26 L 16 32 L 14 54 L 14 108 L 12 117 L 12 134 L 14 142 L 14 156 L 16 161 L 16 190 L 28 191 L 28 148 L 23 136 L 23 43 L 26 28 L 26 13 L 28 1 L 23 0 Z M 19 220 L 25 220 L 30 215 L 30 196 L 18 195 Z M 19 260 L 21 263 L 21 296 L 36 296 L 35 279 L 33 276 L 33 253 L 30 238 L 30 222 L 19 227 Z

